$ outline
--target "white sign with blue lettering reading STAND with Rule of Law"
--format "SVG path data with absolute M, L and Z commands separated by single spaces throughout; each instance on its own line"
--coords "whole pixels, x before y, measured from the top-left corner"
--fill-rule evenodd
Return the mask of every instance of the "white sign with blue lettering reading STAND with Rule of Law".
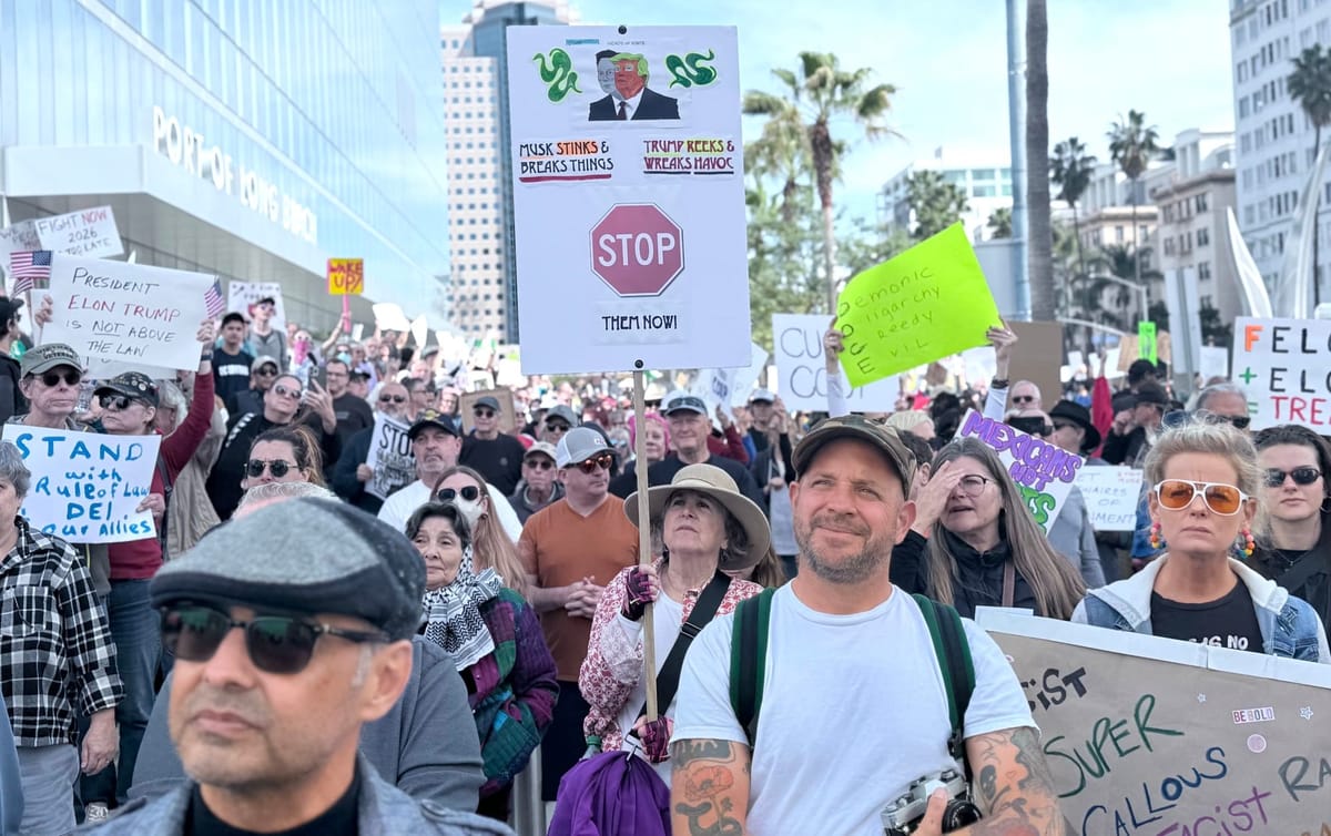
M 198 351 L 196 350 L 196 357 Z M 157 536 L 150 511 L 136 511 L 157 469 L 161 435 L 106 435 L 4 425 L 32 473 L 19 513 L 73 543 L 121 543 Z

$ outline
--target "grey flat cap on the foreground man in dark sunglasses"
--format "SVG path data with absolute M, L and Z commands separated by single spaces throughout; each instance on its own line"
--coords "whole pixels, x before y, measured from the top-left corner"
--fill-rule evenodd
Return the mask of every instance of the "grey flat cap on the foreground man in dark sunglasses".
M 149 595 L 153 607 L 197 600 L 350 615 L 402 640 L 421 626 L 425 563 L 401 531 L 365 511 L 301 498 L 218 526 L 162 566 Z

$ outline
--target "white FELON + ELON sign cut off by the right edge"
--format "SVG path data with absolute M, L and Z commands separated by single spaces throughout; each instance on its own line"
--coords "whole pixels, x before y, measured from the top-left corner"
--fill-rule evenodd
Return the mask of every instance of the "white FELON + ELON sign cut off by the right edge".
M 1331 434 L 1331 319 L 1234 321 L 1234 382 L 1252 429 L 1296 423 Z

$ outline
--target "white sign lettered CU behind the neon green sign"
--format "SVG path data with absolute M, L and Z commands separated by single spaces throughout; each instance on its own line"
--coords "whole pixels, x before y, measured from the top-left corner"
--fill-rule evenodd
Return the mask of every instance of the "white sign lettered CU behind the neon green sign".
M 776 347 L 776 391 L 791 411 L 827 411 L 827 363 L 823 334 L 831 319 L 823 314 L 772 314 Z M 847 389 L 843 381 L 843 389 Z M 901 397 L 897 378 L 851 389 L 847 402 L 853 413 L 890 413 Z

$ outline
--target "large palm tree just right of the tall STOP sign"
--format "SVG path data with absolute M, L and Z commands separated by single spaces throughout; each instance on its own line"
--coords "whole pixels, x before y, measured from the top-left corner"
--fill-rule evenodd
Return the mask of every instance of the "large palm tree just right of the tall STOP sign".
M 864 134 L 876 140 L 892 130 L 882 122 L 892 106 L 896 88 L 890 84 L 868 87 L 869 68 L 843 71 L 831 53 L 801 52 L 800 75 L 773 69 L 784 91 L 781 95 L 749 91 L 743 110 L 749 116 L 768 116 L 788 126 L 800 125 L 813 160 L 813 181 L 823 206 L 823 266 L 828 282 L 828 310 L 836 310 L 836 234 L 832 212 L 832 182 L 837 162 L 845 153 L 844 142 L 832 138 L 831 122 L 841 116 L 857 121 Z

